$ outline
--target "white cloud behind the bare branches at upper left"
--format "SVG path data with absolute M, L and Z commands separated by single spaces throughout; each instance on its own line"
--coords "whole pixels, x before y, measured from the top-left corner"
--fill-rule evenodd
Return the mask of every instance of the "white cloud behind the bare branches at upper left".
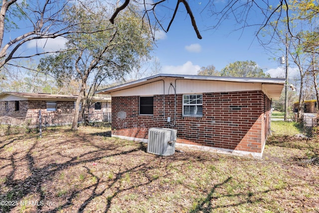
M 67 39 L 64 37 L 56 37 L 56 38 L 42 38 L 31 40 L 28 42 L 28 48 L 41 48 L 44 51 L 56 51 L 59 49 L 65 48 L 65 43 Z

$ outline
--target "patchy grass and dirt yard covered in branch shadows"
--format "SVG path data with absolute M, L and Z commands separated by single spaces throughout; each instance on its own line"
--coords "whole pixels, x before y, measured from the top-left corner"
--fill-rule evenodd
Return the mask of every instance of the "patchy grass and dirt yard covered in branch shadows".
M 109 128 L 0 138 L 0 212 L 319 212 L 319 142 L 272 138 L 262 160 L 161 157 Z

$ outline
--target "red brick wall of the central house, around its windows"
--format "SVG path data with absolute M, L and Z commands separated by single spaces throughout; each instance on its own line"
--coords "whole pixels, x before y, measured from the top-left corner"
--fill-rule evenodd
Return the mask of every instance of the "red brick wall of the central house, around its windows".
M 182 95 L 177 94 L 172 128 L 178 143 L 261 153 L 269 110 L 270 100 L 262 91 L 204 93 L 203 116 L 183 117 Z M 165 95 L 165 106 L 163 95 L 155 95 L 153 116 L 139 115 L 139 96 L 112 97 L 113 135 L 146 139 L 149 128 L 170 128 L 168 116 L 174 123 L 174 95 Z

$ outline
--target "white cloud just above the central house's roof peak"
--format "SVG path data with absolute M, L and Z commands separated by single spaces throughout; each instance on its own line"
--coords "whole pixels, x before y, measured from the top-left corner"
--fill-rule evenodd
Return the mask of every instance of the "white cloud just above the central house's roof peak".
M 196 75 L 200 69 L 199 65 L 194 65 L 191 61 L 187 61 L 179 66 L 163 66 L 161 73 L 164 74 L 183 74 L 183 75 Z

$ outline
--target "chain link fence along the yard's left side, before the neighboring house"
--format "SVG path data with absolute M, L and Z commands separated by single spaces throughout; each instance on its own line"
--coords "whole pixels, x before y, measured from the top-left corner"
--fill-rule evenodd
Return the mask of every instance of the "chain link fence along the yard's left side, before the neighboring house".
M 112 117 L 111 112 L 107 113 L 94 113 L 94 114 L 84 114 L 84 117 L 80 115 L 78 122 L 87 124 L 106 122 L 111 123 Z M 38 129 L 50 127 L 50 126 L 63 126 L 70 125 L 73 122 L 73 114 L 56 114 L 48 113 L 42 114 L 41 119 L 39 114 L 17 117 L 13 118 L 10 116 L 0 117 L 0 136 L 10 135 L 10 134 L 20 134 L 29 133 L 33 131 L 38 131 Z M 39 122 L 41 121 L 41 122 Z M 41 124 L 41 125 L 40 125 Z

